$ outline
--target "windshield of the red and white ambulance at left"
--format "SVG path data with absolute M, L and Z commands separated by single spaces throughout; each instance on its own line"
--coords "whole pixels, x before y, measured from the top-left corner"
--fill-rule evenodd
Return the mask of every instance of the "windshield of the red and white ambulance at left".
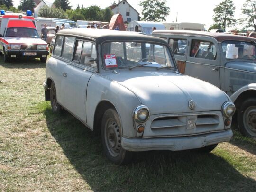
M 36 29 L 25 27 L 7 28 L 5 37 L 40 38 Z

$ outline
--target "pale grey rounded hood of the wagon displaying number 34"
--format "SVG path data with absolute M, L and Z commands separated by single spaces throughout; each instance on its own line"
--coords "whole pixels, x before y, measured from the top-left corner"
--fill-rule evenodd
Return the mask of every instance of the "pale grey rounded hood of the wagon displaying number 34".
M 118 73 L 103 76 L 133 91 L 151 114 L 219 111 L 223 103 L 229 101 L 214 85 L 170 70 L 138 69 Z M 196 104 L 194 110 L 188 107 L 190 100 Z

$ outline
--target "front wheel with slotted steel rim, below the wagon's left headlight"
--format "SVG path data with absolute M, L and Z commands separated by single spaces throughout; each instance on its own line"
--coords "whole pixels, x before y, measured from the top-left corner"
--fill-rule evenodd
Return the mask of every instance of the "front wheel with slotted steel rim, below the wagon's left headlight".
M 107 158 L 114 164 L 130 163 L 133 153 L 121 146 L 122 127 L 116 110 L 105 111 L 101 123 L 101 140 Z

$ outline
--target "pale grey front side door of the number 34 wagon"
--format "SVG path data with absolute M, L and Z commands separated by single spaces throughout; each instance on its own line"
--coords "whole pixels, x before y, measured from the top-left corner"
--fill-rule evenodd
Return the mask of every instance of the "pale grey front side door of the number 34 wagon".
M 86 122 L 87 85 L 91 75 L 97 72 L 96 47 L 93 42 L 82 39 L 76 39 L 73 47 L 73 55 L 69 55 L 71 62 L 65 67 L 61 82 L 63 105 L 78 119 Z

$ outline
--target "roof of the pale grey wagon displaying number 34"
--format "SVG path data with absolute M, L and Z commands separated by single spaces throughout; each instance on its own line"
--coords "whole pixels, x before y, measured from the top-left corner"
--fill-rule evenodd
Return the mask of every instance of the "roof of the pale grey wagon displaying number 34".
M 167 44 L 164 39 L 159 37 L 147 36 L 137 32 L 131 31 L 118 31 L 118 30 L 108 30 L 108 29 L 87 29 L 87 28 L 76 28 L 76 29 L 63 29 L 58 31 L 58 35 L 73 35 L 80 37 L 87 37 L 95 39 L 98 43 L 108 40 L 134 40 L 134 41 L 153 41 L 156 43 Z

